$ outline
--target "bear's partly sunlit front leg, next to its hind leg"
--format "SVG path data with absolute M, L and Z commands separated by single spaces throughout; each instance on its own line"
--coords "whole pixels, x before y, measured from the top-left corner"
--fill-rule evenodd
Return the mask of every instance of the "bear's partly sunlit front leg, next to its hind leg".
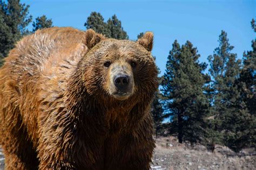
M 42 126 L 38 145 L 39 168 L 103 169 L 103 139 L 95 138 L 95 135 L 68 121 L 59 122 L 58 126 Z

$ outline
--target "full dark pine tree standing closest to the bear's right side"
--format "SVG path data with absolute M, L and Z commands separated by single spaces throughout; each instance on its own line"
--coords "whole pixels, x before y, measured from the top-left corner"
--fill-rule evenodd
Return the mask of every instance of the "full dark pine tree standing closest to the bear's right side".
M 161 90 L 171 120 L 170 133 L 178 136 L 179 143 L 193 145 L 204 138 L 208 101 L 203 92 L 208 76 L 203 74 L 206 64 L 199 63 L 199 57 L 190 41 L 180 47 L 175 40 L 166 63 Z

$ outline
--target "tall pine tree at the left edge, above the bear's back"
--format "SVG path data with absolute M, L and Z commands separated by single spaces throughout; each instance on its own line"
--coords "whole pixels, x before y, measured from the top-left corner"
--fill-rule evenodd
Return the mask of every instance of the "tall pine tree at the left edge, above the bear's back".
M 29 5 L 20 3 L 19 0 L 0 0 L 0 66 L 3 58 L 14 48 L 15 42 L 28 33 L 26 26 L 32 20 L 29 16 Z

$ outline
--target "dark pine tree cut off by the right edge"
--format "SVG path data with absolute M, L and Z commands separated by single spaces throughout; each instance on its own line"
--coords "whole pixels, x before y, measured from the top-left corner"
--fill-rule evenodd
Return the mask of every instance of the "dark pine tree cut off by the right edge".
M 254 19 L 252 19 L 252 29 L 256 32 Z M 235 81 L 235 87 L 239 90 L 239 100 L 235 107 L 241 112 L 242 116 L 238 121 L 238 128 L 232 148 L 240 151 L 244 147 L 256 146 L 256 40 L 252 40 L 252 51 L 244 52 L 243 65 L 239 79 Z

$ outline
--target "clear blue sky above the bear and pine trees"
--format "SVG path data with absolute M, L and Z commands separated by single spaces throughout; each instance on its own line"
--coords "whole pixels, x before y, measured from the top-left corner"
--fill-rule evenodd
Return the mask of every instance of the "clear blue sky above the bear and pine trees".
M 198 48 L 200 61 L 207 62 L 218 44 L 221 30 L 227 32 L 234 53 L 251 50 L 255 34 L 251 20 L 256 18 L 256 1 L 22 1 L 30 5 L 36 17 L 46 15 L 54 26 L 72 26 L 85 30 L 84 23 L 92 11 L 105 20 L 116 14 L 131 40 L 140 32 L 154 32 L 152 54 L 157 58 L 161 74 L 175 39 L 180 44 L 190 40 Z M 32 24 L 29 26 L 32 30 Z

